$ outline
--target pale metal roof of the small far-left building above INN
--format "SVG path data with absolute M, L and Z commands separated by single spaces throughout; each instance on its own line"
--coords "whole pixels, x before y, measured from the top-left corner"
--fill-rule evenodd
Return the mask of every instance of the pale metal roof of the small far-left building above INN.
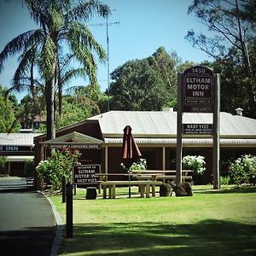
M 39 133 L 0 133 L 0 145 L 31 146 Z

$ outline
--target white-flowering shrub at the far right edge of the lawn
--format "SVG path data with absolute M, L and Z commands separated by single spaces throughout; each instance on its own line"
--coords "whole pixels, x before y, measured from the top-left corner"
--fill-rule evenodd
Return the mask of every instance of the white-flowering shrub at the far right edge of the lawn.
M 244 154 L 230 164 L 231 183 L 236 185 L 241 185 L 241 183 L 255 183 L 256 156 Z

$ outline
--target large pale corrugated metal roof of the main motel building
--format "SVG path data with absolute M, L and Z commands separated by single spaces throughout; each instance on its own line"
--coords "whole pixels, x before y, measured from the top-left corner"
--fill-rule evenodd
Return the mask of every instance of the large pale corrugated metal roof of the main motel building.
M 126 125 L 134 137 L 176 137 L 177 112 L 110 111 L 91 117 L 98 120 L 103 137 L 122 137 Z M 183 124 L 212 124 L 212 113 L 183 113 Z M 256 119 L 220 113 L 220 137 L 255 137 Z

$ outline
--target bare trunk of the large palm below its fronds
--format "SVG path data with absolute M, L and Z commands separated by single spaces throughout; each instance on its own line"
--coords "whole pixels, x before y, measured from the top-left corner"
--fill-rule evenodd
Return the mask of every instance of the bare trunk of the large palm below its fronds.
M 55 138 L 55 79 L 46 82 L 47 140 Z

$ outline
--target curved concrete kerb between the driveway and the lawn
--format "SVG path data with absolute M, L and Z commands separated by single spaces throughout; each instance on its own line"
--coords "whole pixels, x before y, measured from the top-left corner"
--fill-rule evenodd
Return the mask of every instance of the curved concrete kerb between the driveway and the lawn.
M 43 191 L 38 190 L 38 192 L 44 195 Z M 55 240 L 53 241 L 51 251 L 50 251 L 50 256 L 55 256 L 55 255 L 58 255 L 57 254 L 58 250 L 61 247 L 61 241 L 62 241 L 63 232 L 64 232 L 64 225 L 63 225 L 60 212 L 56 210 L 55 205 L 52 203 L 52 201 L 50 201 L 50 199 L 46 195 L 44 195 L 44 197 L 49 201 L 49 204 L 52 208 L 52 212 L 54 213 L 54 217 L 55 217 L 55 223 L 56 223 Z

